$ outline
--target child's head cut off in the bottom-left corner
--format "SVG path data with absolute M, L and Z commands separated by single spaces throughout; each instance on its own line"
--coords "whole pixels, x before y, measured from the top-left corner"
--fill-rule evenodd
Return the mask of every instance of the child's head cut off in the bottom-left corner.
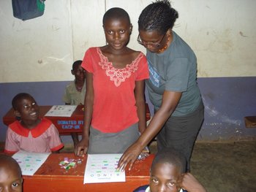
M 9 155 L 0 154 L 0 191 L 22 191 L 20 166 Z

